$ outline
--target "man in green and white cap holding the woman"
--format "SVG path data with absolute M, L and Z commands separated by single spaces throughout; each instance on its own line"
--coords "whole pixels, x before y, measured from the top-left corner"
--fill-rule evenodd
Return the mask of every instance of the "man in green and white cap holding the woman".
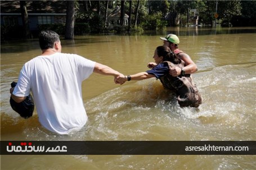
M 191 74 L 197 71 L 197 66 L 192 61 L 190 56 L 188 56 L 188 54 L 184 53 L 182 50 L 179 49 L 179 38 L 177 35 L 168 34 L 165 38 L 160 37 L 160 39 L 164 40 L 164 46 L 169 47 L 170 50 L 172 50 L 172 52 L 175 53 L 179 59 L 182 59 L 185 62 L 183 70 L 179 67 L 173 67 L 169 71 L 170 75 L 175 77 L 182 74 Z

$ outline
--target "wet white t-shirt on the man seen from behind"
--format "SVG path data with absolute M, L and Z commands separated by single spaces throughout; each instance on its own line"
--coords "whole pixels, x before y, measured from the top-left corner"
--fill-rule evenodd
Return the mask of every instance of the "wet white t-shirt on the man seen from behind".
M 28 96 L 32 90 L 39 122 L 57 134 L 80 130 L 87 122 L 82 81 L 95 62 L 76 54 L 55 53 L 26 62 L 13 94 Z

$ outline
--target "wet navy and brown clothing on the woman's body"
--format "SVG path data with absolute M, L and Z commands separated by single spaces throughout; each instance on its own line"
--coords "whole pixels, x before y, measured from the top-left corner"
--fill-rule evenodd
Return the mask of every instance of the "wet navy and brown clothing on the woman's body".
M 191 76 L 171 76 L 169 74 L 169 68 L 174 66 L 182 68 L 184 67 L 184 62 L 182 61 L 180 64 L 174 65 L 171 62 L 165 61 L 146 72 L 153 74 L 157 79 L 160 79 L 164 88 L 175 91 L 178 103 L 181 107 L 199 107 L 202 102 L 201 95 L 192 81 Z

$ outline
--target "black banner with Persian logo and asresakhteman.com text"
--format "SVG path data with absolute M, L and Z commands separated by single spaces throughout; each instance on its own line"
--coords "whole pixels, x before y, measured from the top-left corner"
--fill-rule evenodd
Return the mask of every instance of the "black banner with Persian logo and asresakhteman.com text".
M 256 141 L 0 141 L 1 155 L 255 155 Z

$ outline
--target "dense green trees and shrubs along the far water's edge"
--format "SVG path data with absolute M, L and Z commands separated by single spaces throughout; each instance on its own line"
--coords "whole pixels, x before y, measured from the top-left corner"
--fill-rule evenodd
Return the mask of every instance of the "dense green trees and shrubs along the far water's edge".
M 50 3 L 50 2 L 48 2 Z M 55 3 L 52 1 L 51 3 Z M 110 25 L 110 13 L 119 11 L 119 24 Z M 74 34 L 126 33 L 143 30 L 165 30 L 167 26 L 198 25 L 256 26 L 256 1 L 182 1 L 182 0 L 126 0 L 75 1 Z M 124 16 L 128 15 L 128 24 Z M 218 13 L 218 17 L 216 14 Z M 214 16 L 215 15 L 215 16 Z M 121 17 L 122 16 L 122 17 Z M 197 17 L 198 16 L 198 17 Z M 116 21 L 115 21 L 116 23 Z M 54 29 L 65 34 L 65 25 L 38 25 L 38 29 Z M 22 35 L 19 27 L 1 26 L 1 40 L 9 35 Z

